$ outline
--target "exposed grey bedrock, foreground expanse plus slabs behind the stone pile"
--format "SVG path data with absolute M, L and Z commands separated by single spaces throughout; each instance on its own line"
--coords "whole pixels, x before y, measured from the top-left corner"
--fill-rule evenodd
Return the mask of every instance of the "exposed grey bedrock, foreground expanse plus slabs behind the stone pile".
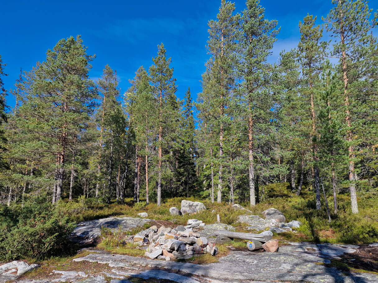
M 243 209 L 243 208 L 238 208 Z M 246 209 L 245 209 L 246 210 Z M 248 213 L 248 210 L 246 210 Z M 283 215 L 270 210 L 265 219 L 256 215 L 242 215 L 239 221 L 259 228 L 291 228 Z M 147 218 L 110 217 L 79 223 L 72 239 L 93 243 L 101 234 L 101 227 L 129 231 L 152 220 Z M 291 221 L 293 222 L 293 221 Z M 293 223 L 292 223 L 293 224 Z M 296 225 L 294 223 L 293 225 Z M 200 237 L 212 237 L 214 231 L 232 231 L 234 227 L 222 223 L 196 227 Z M 252 228 L 251 228 L 252 229 Z M 28 265 L 13 261 L 0 265 L 0 283 L 220 283 L 220 282 L 378 282 L 378 273 L 351 268 L 363 268 L 377 261 L 378 243 L 370 245 L 336 245 L 314 243 L 280 243 L 278 252 L 248 251 L 228 247 L 218 262 L 208 264 L 177 260 L 158 260 L 146 257 L 110 254 L 95 248 L 84 248 L 76 257 L 54 265 Z M 367 258 L 364 261 L 364 258 Z M 337 264 L 347 262 L 347 264 Z M 374 264 L 368 269 L 376 271 Z M 26 273 L 25 273 L 26 272 Z

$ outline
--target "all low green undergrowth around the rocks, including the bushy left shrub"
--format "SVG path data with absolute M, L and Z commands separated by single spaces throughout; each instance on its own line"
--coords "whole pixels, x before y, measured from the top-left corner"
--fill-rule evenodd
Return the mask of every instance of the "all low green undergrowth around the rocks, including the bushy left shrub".
M 359 214 L 350 211 L 348 195 L 338 195 L 338 214 L 331 213 L 328 222 L 327 212 L 322 200 L 322 209 L 316 210 L 314 193 L 304 187 L 300 196 L 291 192 L 288 183 L 271 184 L 260 188 L 261 202 L 254 207 L 246 203 L 241 204 L 251 210 L 252 214 L 262 216 L 261 212 L 267 208 L 276 208 L 283 212 L 287 222 L 299 220 L 302 225 L 296 232 L 285 232 L 274 235 L 279 240 L 313 241 L 330 243 L 372 243 L 378 241 L 378 197 L 359 196 Z M 185 198 L 192 201 L 202 201 L 206 211 L 195 215 L 172 216 L 169 208 L 180 208 L 184 198 L 168 198 L 162 205 L 155 203 L 147 205 L 145 201 L 134 204 L 132 198 L 124 203 L 103 203 L 96 198 L 80 197 L 73 201 L 59 201 L 54 206 L 46 203 L 45 198 L 37 197 L 27 201 L 24 206 L 0 207 L 0 261 L 17 258 L 41 259 L 51 256 L 67 254 L 71 245 L 67 237 L 74 229 L 74 223 L 112 216 L 136 217 L 139 212 L 147 212 L 148 218 L 158 221 L 169 221 L 172 225 L 186 225 L 187 220 L 197 218 L 206 224 L 216 223 L 217 214 L 222 223 L 233 225 L 237 231 L 245 230 L 245 224 L 237 223 L 238 215 L 245 211 L 232 208 L 228 203 L 211 203 L 196 197 Z M 328 197 L 332 206 L 332 195 Z M 332 208 L 330 208 L 332 211 Z M 247 212 L 249 213 L 249 212 Z M 128 232 L 102 231 L 98 248 L 109 252 L 141 256 L 144 251 L 135 245 L 126 243 L 125 237 L 134 235 L 145 227 L 139 227 Z M 235 248 L 245 247 L 243 241 L 228 243 Z M 195 261 L 208 261 L 206 256 L 197 257 Z M 202 259 L 201 259 L 202 258 Z M 211 262 L 211 260 L 209 260 Z

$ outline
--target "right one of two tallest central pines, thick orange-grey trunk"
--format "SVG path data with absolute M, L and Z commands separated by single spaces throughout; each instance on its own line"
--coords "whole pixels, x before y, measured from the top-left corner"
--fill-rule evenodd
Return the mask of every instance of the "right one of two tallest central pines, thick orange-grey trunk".
M 254 152 L 257 135 L 256 123 L 269 123 L 265 113 L 273 107 L 267 91 L 271 66 L 267 63 L 279 29 L 276 20 L 265 19 L 265 9 L 258 0 L 248 0 L 240 16 L 239 74 L 242 79 L 240 92 L 245 105 L 245 120 L 248 121 L 249 201 L 256 205 Z

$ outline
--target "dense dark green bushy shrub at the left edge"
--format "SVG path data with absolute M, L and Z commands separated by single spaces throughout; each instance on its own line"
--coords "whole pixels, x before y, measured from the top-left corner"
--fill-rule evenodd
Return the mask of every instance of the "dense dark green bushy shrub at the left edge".
M 68 235 L 75 225 L 68 216 L 37 197 L 24 207 L 0 207 L 0 261 L 19 258 L 45 258 L 67 249 Z

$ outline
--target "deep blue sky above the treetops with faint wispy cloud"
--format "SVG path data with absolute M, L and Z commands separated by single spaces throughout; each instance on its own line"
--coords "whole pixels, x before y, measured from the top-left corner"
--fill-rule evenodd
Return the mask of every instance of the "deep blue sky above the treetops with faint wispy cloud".
M 266 18 L 277 19 L 281 32 L 271 61 L 282 49 L 289 50 L 299 40 L 298 22 L 307 13 L 326 16 L 331 0 L 261 0 Z M 96 54 L 90 77 L 101 75 L 109 64 L 121 79 L 121 93 L 129 87 L 136 69 L 148 68 L 157 45 L 164 43 L 172 57 L 177 78 L 177 96 L 183 98 L 188 87 L 194 98 L 201 91 L 204 72 L 207 22 L 217 15 L 220 0 L 206 1 L 3 1 L 0 54 L 6 63 L 5 88 L 13 88 L 20 68 L 30 70 L 45 60 L 47 49 L 61 38 L 82 35 L 88 54 Z M 245 8 L 244 0 L 235 1 L 236 11 Z M 369 2 L 378 9 L 378 0 Z M 14 106 L 14 98 L 7 97 Z

